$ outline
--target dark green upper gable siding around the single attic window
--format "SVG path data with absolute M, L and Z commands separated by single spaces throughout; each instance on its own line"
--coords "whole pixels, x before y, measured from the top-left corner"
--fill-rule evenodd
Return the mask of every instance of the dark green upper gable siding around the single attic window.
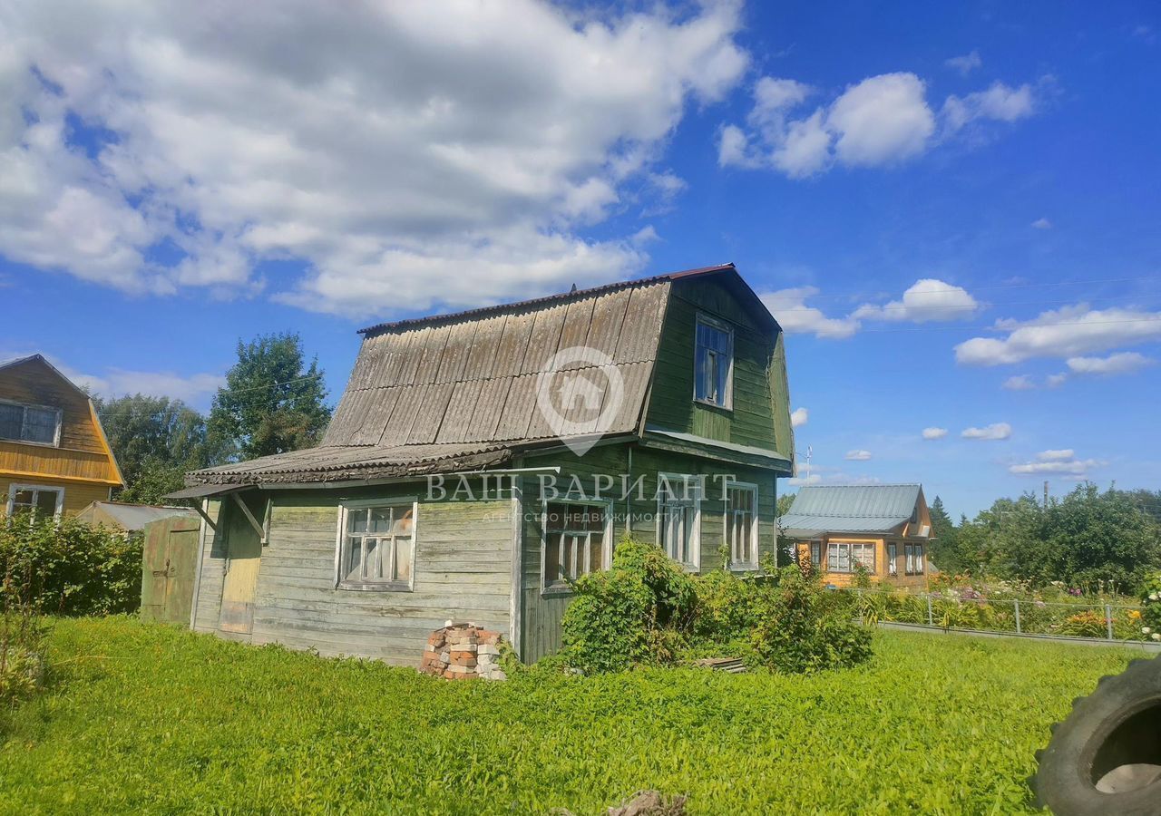
M 693 402 L 698 312 L 734 326 L 733 409 Z M 647 423 L 666 431 L 777 450 L 789 456 L 793 439 L 786 395 L 785 352 L 737 298 L 715 280 L 673 284 L 657 353 Z

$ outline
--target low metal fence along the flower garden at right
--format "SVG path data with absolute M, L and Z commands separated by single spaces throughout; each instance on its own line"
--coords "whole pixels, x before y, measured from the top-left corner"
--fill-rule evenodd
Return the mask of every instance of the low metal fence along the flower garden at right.
M 913 623 L 1010 635 L 1037 635 L 1153 643 L 1145 633 L 1144 607 L 1124 602 L 1043 601 L 962 597 L 882 590 L 837 588 L 853 595 L 856 615 L 889 623 Z

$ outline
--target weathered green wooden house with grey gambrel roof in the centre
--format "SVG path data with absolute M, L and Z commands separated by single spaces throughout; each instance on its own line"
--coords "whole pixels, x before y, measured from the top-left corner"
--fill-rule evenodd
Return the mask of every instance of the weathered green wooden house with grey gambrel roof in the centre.
M 365 328 L 317 448 L 193 472 L 192 624 L 416 664 L 447 620 L 558 648 L 629 533 L 756 570 L 793 469 L 783 332 L 733 265 Z

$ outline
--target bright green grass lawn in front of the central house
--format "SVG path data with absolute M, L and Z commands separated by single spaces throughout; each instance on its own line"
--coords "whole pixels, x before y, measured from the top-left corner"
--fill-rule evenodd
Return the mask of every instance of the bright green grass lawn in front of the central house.
M 447 683 L 124 618 L 62 620 L 0 721 L 5 813 L 1026 810 L 1048 725 L 1133 653 L 882 631 L 815 677 L 650 670 Z

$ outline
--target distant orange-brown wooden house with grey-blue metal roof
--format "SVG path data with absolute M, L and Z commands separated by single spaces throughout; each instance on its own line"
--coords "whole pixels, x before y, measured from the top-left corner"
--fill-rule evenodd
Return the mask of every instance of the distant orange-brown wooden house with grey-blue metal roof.
M 918 484 L 807 485 L 779 519 L 781 535 L 828 584 L 872 582 L 925 588 L 931 514 Z

